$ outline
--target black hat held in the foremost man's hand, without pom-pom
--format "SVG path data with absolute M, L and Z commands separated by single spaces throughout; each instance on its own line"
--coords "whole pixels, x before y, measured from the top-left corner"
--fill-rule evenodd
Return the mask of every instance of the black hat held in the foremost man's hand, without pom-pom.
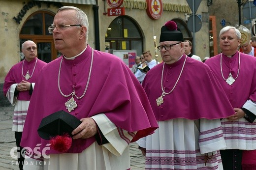
M 65 111 L 58 111 L 50 114 L 41 120 L 39 128 L 37 129 L 38 135 L 45 140 L 50 140 L 57 135 L 64 135 L 77 128 L 82 122 L 72 114 Z

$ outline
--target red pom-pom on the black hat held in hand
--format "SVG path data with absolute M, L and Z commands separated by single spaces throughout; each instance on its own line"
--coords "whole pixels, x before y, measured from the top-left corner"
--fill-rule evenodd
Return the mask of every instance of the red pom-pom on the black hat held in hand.
M 50 147 L 59 152 L 66 152 L 72 144 L 72 138 L 66 133 L 62 136 L 57 135 L 50 140 Z

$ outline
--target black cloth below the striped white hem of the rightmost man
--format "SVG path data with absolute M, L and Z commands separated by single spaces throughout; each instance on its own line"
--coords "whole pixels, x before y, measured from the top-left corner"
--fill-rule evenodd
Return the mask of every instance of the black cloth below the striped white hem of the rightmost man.
M 242 170 L 242 150 L 220 150 L 224 170 Z

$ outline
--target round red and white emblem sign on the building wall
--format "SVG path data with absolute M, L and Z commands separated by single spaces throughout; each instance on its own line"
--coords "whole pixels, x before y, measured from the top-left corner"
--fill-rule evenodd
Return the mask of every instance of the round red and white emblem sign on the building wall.
M 147 0 L 147 5 L 148 16 L 153 20 L 159 19 L 163 11 L 162 0 Z

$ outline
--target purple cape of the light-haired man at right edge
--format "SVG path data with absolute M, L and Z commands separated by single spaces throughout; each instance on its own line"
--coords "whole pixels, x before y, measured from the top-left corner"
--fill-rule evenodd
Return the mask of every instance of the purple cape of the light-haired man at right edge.
M 238 73 L 238 54 L 233 57 L 222 55 L 222 69 L 225 79 L 228 78 L 229 72 L 235 79 Z M 242 108 L 249 99 L 256 101 L 256 58 L 240 53 L 240 71 L 237 79 L 232 85 L 228 85 L 221 73 L 221 54 L 207 59 L 205 62 L 214 72 L 221 83 L 226 96 L 233 108 Z M 244 79 L 246 78 L 246 79 Z

